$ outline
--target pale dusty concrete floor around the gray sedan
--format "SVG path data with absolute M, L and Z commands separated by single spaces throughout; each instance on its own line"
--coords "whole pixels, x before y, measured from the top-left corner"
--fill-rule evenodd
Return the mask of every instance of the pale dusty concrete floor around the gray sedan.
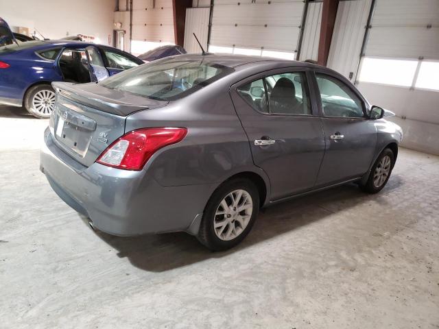
M 439 157 L 378 195 L 266 210 L 230 252 L 95 233 L 38 171 L 47 121 L 0 108 L 1 328 L 439 328 Z

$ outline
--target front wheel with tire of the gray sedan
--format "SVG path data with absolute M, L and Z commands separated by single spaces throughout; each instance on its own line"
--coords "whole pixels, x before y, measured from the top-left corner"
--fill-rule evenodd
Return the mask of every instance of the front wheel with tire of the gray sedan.
M 378 193 L 387 184 L 394 166 L 394 154 L 391 149 L 384 149 L 370 170 L 368 180 L 360 184 L 367 193 Z

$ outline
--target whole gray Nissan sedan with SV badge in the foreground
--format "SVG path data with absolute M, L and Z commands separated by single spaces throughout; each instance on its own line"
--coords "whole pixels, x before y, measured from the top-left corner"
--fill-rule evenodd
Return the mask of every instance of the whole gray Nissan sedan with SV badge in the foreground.
M 259 208 L 357 182 L 377 193 L 401 128 L 307 62 L 182 55 L 103 82 L 56 82 L 41 171 L 109 234 L 185 231 L 233 247 Z

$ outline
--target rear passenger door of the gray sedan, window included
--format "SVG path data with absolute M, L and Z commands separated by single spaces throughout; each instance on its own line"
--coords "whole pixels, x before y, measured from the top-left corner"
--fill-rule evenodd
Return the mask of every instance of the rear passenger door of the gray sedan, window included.
M 322 123 L 306 71 L 276 70 L 233 86 L 230 95 L 253 161 L 270 178 L 271 200 L 313 188 L 324 154 Z

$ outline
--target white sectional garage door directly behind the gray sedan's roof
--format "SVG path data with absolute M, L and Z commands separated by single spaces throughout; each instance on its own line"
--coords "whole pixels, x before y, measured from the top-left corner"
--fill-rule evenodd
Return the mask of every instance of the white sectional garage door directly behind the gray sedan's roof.
M 303 8 L 302 0 L 215 0 L 209 50 L 293 58 Z

